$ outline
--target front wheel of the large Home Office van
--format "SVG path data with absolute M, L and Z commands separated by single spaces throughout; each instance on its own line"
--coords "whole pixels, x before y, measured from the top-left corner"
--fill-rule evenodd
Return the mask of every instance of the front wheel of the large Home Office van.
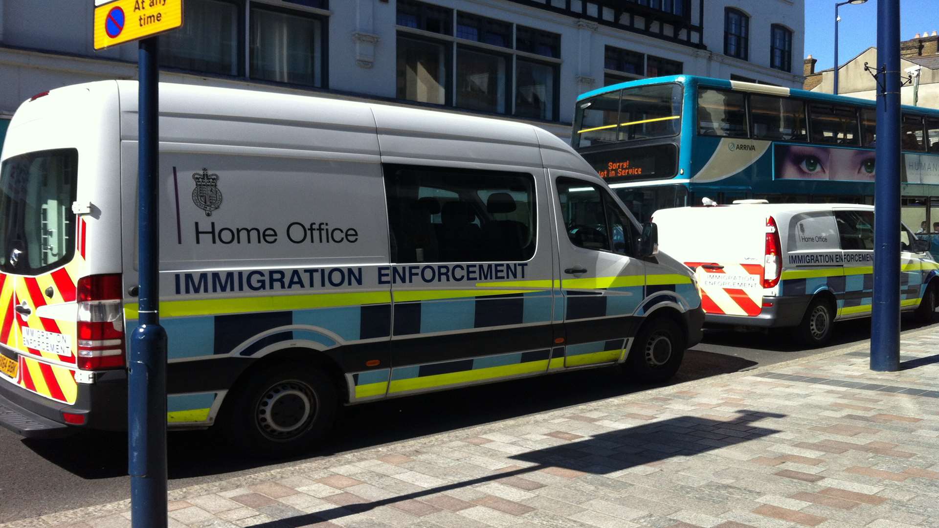
M 660 383 L 678 372 L 685 358 L 685 330 L 670 318 L 646 321 L 623 365 L 625 374 L 641 383 Z

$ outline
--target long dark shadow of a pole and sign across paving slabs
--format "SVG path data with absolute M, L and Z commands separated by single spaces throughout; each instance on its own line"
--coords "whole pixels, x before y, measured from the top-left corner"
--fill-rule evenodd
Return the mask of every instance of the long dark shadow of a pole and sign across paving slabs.
M 510 457 L 533 465 L 516 470 L 487 475 L 479 478 L 456 482 L 437 488 L 423 489 L 406 495 L 390 499 L 369 502 L 362 499 L 361 503 L 336 506 L 334 508 L 300 515 L 297 517 L 273 520 L 255 524 L 254 528 L 286 528 L 306 526 L 315 522 L 341 519 L 343 517 L 362 513 L 379 506 L 421 499 L 451 489 L 466 488 L 486 482 L 499 481 L 510 477 L 522 477 L 539 470 L 561 468 L 573 470 L 584 474 L 605 475 L 619 472 L 643 464 L 649 464 L 673 457 L 693 457 L 714 449 L 759 440 L 779 432 L 776 429 L 754 427 L 753 424 L 764 418 L 784 418 L 784 414 L 772 412 L 754 412 L 748 410 L 738 411 L 739 417 L 721 422 L 700 418 L 697 416 L 681 416 L 670 418 L 661 422 L 643 424 L 638 427 L 610 431 L 596 435 L 587 440 L 568 443 L 531 451 L 522 455 Z M 746 430 L 743 430 L 746 429 Z M 724 437 L 732 433 L 734 436 L 723 440 L 704 438 L 708 435 Z M 695 436 L 690 433 L 698 433 Z M 612 481 L 614 484 L 617 481 Z M 629 484 L 623 482 L 623 488 Z M 346 493 L 348 495 L 348 493 Z M 329 499 L 327 499 L 329 500 Z

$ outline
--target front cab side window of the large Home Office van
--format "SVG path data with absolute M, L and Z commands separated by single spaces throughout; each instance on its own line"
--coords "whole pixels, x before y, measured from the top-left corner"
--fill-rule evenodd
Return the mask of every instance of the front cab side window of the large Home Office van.
M 580 179 L 559 178 L 558 198 L 571 243 L 584 249 L 634 254 L 632 221 L 607 191 Z

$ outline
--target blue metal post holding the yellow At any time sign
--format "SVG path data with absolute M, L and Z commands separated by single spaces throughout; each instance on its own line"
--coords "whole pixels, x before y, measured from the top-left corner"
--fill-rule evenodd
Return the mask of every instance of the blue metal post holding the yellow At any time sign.
M 160 299 L 159 126 L 157 39 L 140 41 L 138 91 L 139 325 L 131 334 L 128 362 L 128 442 L 131 523 L 166 528 L 166 333 L 157 311 Z

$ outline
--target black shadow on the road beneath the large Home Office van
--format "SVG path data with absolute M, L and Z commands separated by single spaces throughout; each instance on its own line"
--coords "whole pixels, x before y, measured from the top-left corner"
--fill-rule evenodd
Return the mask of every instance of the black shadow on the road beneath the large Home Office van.
M 736 372 L 756 365 L 724 354 L 688 350 L 673 380 L 664 385 Z M 631 383 L 618 367 L 508 380 L 439 393 L 347 407 L 331 435 L 298 458 L 245 456 L 211 429 L 174 431 L 168 435 L 170 480 L 227 474 L 309 458 L 327 457 L 397 443 L 422 436 L 475 427 L 538 412 L 623 396 L 663 385 Z M 106 479 L 127 475 L 126 433 L 83 431 L 66 440 L 23 440 L 36 455 L 80 478 Z M 68 449 L 63 445 L 68 444 Z M 76 457 L 76 453 L 82 453 Z

